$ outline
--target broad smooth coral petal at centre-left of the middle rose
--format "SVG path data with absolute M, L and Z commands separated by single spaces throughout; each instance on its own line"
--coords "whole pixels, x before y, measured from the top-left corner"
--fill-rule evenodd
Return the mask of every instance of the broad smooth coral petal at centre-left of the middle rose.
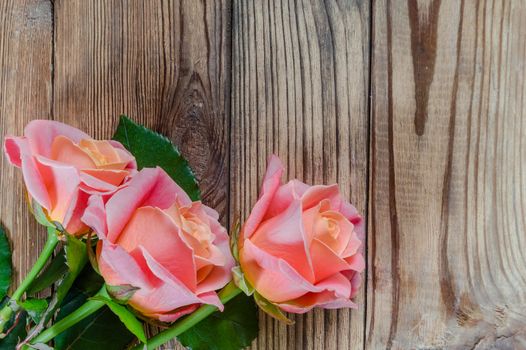
M 163 268 L 195 290 L 194 253 L 179 236 L 173 220 L 159 208 L 137 209 L 115 243 L 128 252 L 143 247 Z

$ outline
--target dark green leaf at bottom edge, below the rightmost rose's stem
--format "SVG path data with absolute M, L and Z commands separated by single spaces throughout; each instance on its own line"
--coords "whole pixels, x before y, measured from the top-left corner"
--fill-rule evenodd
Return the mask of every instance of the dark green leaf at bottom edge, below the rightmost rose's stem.
M 239 294 L 225 305 L 223 312 L 214 312 L 178 338 L 192 350 L 238 350 L 252 343 L 258 328 L 254 300 Z

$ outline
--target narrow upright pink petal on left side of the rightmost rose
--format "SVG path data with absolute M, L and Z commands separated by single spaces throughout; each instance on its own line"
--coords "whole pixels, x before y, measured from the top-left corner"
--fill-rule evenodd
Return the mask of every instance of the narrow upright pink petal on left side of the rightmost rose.
M 267 165 L 267 172 L 263 179 L 263 186 L 261 188 L 261 193 L 259 194 L 259 199 L 254 205 L 252 212 L 241 230 L 241 236 L 243 238 L 250 238 L 265 216 L 270 202 L 279 187 L 282 173 L 283 164 L 281 163 L 281 160 L 277 156 L 272 155 Z

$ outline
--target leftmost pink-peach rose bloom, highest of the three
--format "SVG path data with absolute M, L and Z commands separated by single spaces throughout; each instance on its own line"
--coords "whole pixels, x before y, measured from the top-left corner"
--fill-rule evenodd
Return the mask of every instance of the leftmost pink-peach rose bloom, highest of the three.
M 91 194 L 111 194 L 136 172 L 135 158 L 117 141 L 97 141 L 69 125 L 27 124 L 24 136 L 7 136 L 4 151 L 22 168 L 30 199 L 71 234 L 87 230 L 80 218 Z

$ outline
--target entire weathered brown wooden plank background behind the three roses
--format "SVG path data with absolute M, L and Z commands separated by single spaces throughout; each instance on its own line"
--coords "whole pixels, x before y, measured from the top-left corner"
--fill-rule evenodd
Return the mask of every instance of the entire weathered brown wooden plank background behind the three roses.
M 526 349 L 526 1 L 0 0 L 0 132 L 121 113 L 225 224 L 267 156 L 368 219 L 358 310 L 260 316 L 253 349 Z M 45 235 L 0 158 L 17 276 Z M 171 345 L 167 348 L 174 348 Z

